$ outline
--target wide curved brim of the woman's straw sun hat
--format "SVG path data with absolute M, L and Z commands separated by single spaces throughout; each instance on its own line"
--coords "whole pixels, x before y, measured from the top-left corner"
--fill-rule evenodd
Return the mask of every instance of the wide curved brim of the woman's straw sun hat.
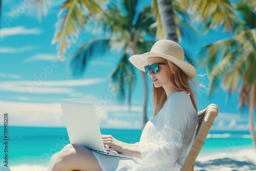
M 144 66 L 147 66 L 147 59 L 150 57 L 162 57 L 164 59 L 167 59 L 171 62 L 173 62 L 175 65 L 177 65 L 190 79 L 195 78 L 196 76 L 196 69 L 193 65 L 190 65 L 189 63 L 186 63 L 184 61 L 178 60 L 177 58 L 170 56 L 170 55 L 164 55 L 160 53 L 154 53 L 154 52 L 147 52 L 141 55 L 133 55 L 129 58 L 131 63 L 140 69 L 141 71 L 145 72 Z

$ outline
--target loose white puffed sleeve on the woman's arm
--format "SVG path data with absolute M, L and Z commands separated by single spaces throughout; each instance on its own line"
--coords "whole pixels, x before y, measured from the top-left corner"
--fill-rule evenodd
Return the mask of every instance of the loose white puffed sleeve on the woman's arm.
M 188 99 L 189 98 L 189 99 Z M 155 133 L 157 141 L 147 142 L 141 146 L 142 164 L 153 166 L 158 163 L 175 163 L 181 154 L 183 137 L 187 126 L 188 112 L 186 103 L 190 97 L 185 93 L 175 93 L 166 101 L 164 117 L 156 126 L 160 126 Z

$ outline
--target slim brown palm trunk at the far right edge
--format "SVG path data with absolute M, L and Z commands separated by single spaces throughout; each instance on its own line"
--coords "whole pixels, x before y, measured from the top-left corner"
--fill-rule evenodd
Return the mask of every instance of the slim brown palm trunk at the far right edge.
M 254 96 L 256 93 L 256 84 L 252 86 L 251 92 L 250 92 L 250 102 L 249 102 L 249 111 L 250 111 L 250 117 L 249 117 L 249 122 L 250 122 L 250 132 L 251 132 L 251 138 L 252 142 L 254 144 L 254 148 L 256 149 L 256 136 L 255 136 L 255 129 L 254 129 L 254 109 L 255 109 L 255 101 L 254 101 Z

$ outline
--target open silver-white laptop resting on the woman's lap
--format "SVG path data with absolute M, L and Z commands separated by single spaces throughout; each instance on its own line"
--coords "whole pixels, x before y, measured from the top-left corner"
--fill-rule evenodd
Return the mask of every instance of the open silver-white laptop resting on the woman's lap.
M 60 105 L 71 144 L 87 147 L 104 155 L 130 158 L 112 148 L 104 147 L 92 99 L 66 99 L 61 100 Z

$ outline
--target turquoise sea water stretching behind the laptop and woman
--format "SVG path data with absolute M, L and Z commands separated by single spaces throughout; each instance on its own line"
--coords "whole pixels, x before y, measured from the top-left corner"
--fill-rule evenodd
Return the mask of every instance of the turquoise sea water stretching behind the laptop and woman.
M 141 130 L 101 129 L 101 133 L 113 135 L 127 143 L 135 143 L 139 141 Z M 3 127 L 0 127 L 0 134 L 0 141 L 3 141 L 0 142 L 0 157 L 3 159 Z M 9 127 L 8 136 L 9 166 L 48 166 L 52 155 L 69 143 L 66 128 L 12 126 Z M 248 131 L 210 131 L 199 155 L 228 155 L 251 147 L 252 140 Z

